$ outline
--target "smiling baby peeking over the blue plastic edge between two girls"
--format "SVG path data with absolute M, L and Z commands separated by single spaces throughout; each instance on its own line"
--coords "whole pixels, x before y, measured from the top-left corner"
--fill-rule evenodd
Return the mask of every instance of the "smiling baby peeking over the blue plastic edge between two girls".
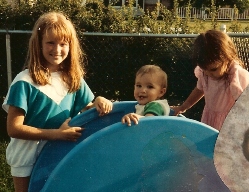
M 123 116 L 122 123 L 131 126 L 131 121 L 138 124 L 141 117 L 168 116 L 170 107 L 163 99 L 167 90 L 167 74 L 156 65 L 144 65 L 136 73 L 134 97 L 138 101 L 136 113 Z

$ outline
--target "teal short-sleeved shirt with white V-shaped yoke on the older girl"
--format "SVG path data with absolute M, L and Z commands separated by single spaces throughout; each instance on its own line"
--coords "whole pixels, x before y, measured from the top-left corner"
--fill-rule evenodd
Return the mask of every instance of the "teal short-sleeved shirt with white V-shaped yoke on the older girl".
M 77 115 L 93 99 L 94 95 L 83 79 L 79 90 L 68 93 L 59 72 L 51 74 L 51 84 L 40 86 L 33 83 L 26 69 L 12 82 L 3 108 L 7 112 L 9 105 L 23 109 L 26 125 L 59 128 L 67 118 Z

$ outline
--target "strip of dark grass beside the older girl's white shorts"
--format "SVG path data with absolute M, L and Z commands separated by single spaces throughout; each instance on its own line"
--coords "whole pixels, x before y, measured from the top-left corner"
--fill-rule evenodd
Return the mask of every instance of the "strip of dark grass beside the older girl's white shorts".
M 7 147 L 6 141 L 0 141 L 0 191 L 12 192 L 14 185 L 10 174 L 10 166 L 6 162 L 5 151 Z

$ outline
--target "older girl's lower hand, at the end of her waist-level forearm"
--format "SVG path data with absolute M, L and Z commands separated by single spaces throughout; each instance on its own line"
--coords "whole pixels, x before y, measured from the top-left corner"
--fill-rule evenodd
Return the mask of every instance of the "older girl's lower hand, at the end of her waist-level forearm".
M 66 121 L 60 126 L 60 128 L 57 129 L 57 132 L 55 133 L 55 139 L 67 141 L 77 141 L 77 139 L 79 139 L 84 128 L 70 127 L 68 125 L 68 122 L 70 120 L 71 118 L 66 119 Z

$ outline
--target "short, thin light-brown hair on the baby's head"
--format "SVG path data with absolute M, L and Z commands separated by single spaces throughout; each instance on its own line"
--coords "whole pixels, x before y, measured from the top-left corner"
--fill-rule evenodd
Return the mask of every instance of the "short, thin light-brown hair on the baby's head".
M 167 74 L 157 65 L 144 65 L 136 73 L 143 76 L 144 74 L 156 74 L 161 79 L 161 87 L 166 88 L 168 86 Z

